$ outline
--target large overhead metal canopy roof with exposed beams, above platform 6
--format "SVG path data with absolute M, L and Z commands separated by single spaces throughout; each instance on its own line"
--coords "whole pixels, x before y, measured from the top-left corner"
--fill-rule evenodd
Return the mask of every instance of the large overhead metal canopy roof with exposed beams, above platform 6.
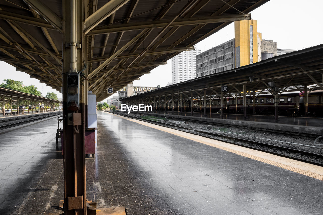
M 102 100 L 267 1 L 84 0 L 89 90 Z M 62 24 L 62 0 L 0 0 L 0 60 L 60 90 Z

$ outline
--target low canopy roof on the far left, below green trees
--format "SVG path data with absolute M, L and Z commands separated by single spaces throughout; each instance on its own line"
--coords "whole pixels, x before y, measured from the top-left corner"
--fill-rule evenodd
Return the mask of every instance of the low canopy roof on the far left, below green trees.
M 61 103 L 62 101 L 58 101 L 55 99 L 47 98 L 47 97 L 42 97 L 42 96 L 36 96 L 33 94 L 29 93 L 24 93 L 4 87 L 0 87 L 0 98 L 3 99 L 5 98 L 5 101 L 13 99 L 13 100 L 18 100 L 18 99 L 26 99 L 26 100 L 36 100 L 36 101 L 43 101 L 43 102 L 52 102 L 52 103 Z

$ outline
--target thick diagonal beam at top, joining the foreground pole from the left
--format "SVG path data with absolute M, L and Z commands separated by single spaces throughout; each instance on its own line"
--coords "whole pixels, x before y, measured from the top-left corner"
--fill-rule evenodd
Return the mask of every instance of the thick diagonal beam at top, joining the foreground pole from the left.
M 62 18 L 39 0 L 23 0 L 59 32 L 62 32 Z

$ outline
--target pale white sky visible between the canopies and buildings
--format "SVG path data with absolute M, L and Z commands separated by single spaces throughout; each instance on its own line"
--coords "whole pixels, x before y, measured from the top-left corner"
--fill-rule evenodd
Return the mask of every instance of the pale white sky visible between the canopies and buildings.
M 262 39 L 277 42 L 277 48 L 300 50 L 323 43 L 322 8 L 323 0 L 270 0 L 252 11 L 251 18 L 257 20 L 257 31 L 262 33 Z M 203 52 L 233 38 L 234 23 L 198 43 L 197 48 Z M 24 85 L 35 85 L 44 96 L 47 92 L 55 92 L 58 98 L 62 97 L 58 91 L 24 72 L 17 72 L 15 67 L 3 61 L 0 61 L 0 68 L 0 82 L 3 79 L 23 81 Z M 134 81 L 133 86 L 164 87 L 171 82 L 171 72 L 169 60 L 168 65 L 151 70 L 151 74 Z

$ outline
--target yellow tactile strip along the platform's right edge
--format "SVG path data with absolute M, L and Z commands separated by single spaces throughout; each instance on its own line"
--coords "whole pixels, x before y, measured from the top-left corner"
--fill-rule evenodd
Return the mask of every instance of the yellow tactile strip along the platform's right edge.
M 109 113 L 109 114 L 111 114 L 111 113 Z M 224 151 L 228 151 L 228 152 L 231 152 L 231 153 L 234 153 L 234 154 L 237 154 L 237 155 L 241 155 L 241 156 L 244 156 L 246 158 L 258 160 L 258 161 L 261 161 L 263 163 L 267 163 L 267 164 L 270 164 L 270 165 L 273 165 L 273 166 L 276 166 L 276 167 L 287 169 L 287 170 L 290 170 L 292 172 L 296 172 L 296 173 L 299 173 L 301 175 L 305 175 L 305 176 L 308 176 L 308 177 L 323 181 L 323 175 L 320 175 L 320 174 L 317 174 L 317 173 L 314 173 L 314 172 L 311 172 L 311 171 L 307 171 L 307 170 L 304 170 L 304 169 L 299 169 L 299 168 L 296 168 L 296 167 L 292 167 L 292 166 L 282 164 L 282 163 L 279 163 L 279 162 L 276 162 L 276 161 L 261 158 L 261 157 L 258 157 L 258 156 L 250 155 L 248 153 L 237 151 L 237 150 L 234 150 L 234 149 L 231 149 L 231 148 L 226 148 L 226 147 L 222 147 L 222 146 L 219 146 L 219 145 L 216 145 L 216 144 L 204 142 L 204 141 L 198 140 L 196 138 L 192 139 L 192 138 L 180 135 L 180 132 L 183 132 L 183 131 L 174 130 L 175 132 L 172 132 L 172 131 L 169 131 L 168 129 L 165 129 L 165 127 L 154 125 L 154 124 L 151 124 L 151 123 L 148 123 L 148 122 L 142 122 L 142 121 L 139 121 L 139 120 L 136 120 L 136 119 L 122 117 L 122 116 L 115 115 L 115 114 L 111 114 L 111 115 L 116 116 L 116 117 L 120 117 L 120 118 L 123 118 L 123 119 L 126 119 L 126 120 L 129 120 L 129 121 L 132 121 L 132 122 L 144 125 L 144 126 L 155 128 L 155 129 L 167 132 L 167 133 L 171 133 L 171 134 L 174 134 L 176 136 L 180 136 L 180 137 L 190 139 L 190 140 L 193 140 L 193 141 L 196 141 L 196 142 L 199 142 L 199 143 L 203 143 L 203 144 L 208 145 L 208 146 L 219 148 L 219 149 L 222 149 Z M 151 126 L 151 125 L 153 125 L 153 126 Z M 169 128 L 169 129 L 172 129 L 172 128 Z M 194 135 L 194 136 L 198 136 L 198 135 Z M 200 136 L 198 136 L 198 137 L 200 137 Z

